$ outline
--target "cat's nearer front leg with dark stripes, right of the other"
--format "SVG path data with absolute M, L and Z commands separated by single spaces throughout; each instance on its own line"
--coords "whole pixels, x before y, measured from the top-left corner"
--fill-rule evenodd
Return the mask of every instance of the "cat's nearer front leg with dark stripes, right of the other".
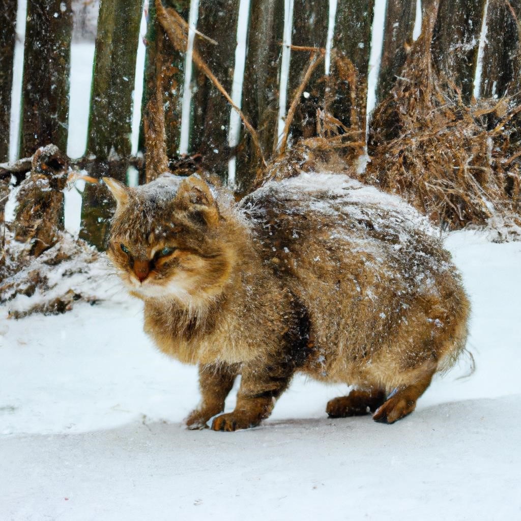
M 268 366 L 243 366 L 237 405 L 231 413 L 217 416 L 212 429 L 234 431 L 257 426 L 271 414 L 293 373 L 294 366 L 286 362 Z

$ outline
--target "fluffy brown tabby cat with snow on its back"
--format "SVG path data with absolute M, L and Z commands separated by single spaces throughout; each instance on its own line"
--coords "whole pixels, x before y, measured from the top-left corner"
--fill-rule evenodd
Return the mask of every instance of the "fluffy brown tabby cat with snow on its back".
M 258 425 L 295 371 L 354 386 L 327 413 L 411 413 L 432 375 L 463 349 L 469 304 L 450 254 L 399 197 L 343 175 L 270 182 L 235 204 L 198 176 L 117 200 L 108 253 L 145 303 L 160 350 L 199 364 L 202 402 L 187 419 Z

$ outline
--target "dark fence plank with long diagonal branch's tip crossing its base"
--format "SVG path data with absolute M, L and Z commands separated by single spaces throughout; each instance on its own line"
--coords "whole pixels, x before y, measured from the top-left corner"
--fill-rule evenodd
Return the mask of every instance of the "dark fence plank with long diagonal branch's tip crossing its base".
M 277 133 L 283 0 L 252 0 L 250 20 L 242 108 L 269 154 Z M 237 154 L 239 191 L 247 190 L 259 159 L 250 133 L 243 130 Z

